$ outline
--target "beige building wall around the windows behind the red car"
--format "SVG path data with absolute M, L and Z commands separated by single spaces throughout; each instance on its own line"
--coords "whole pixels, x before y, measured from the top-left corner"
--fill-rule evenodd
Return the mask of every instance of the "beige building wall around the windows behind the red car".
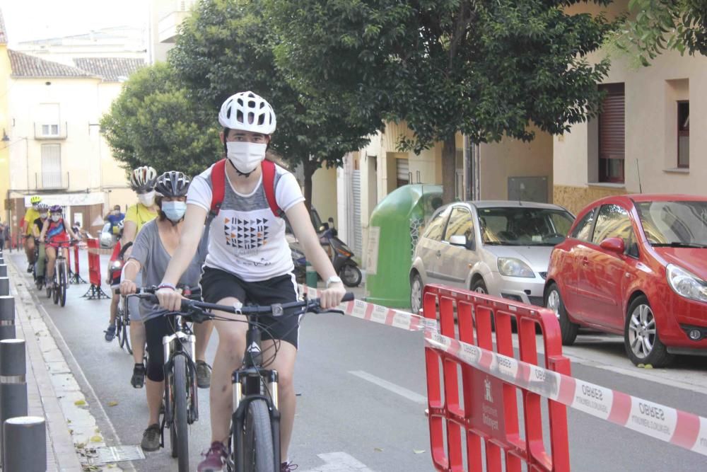
M 597 61 L 607 52 L 591 57 Z M 554 139 L 555 202 L 570 209 L 617 192 L 703 194 L 707 178 L 707 57 L 665 52 L 650 67 L 614 53 L 605 84 L 626 87 L 626 147 L 623 185 L 598 180 L 595 121 Z M 690 167 L 677 168 L 677 100 L 690 101 Z M 640 178 L 639 178 L 640 177 Z M 597 190 L 603 188 L 604 190 Z

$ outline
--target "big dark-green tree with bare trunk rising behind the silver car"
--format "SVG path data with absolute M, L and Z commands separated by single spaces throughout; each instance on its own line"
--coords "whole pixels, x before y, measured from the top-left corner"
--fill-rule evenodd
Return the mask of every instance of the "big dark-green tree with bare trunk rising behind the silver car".
M 444 200 L 454 197 L 455 134 L 530 140 L 595 115 L 612 24 L 568 14 L 580 0 L 268 0 L 278 64 L 349 121 L 407 122 L 419 152 L 443 142 Z M 607 4 L 597 0 L 590 3 Z

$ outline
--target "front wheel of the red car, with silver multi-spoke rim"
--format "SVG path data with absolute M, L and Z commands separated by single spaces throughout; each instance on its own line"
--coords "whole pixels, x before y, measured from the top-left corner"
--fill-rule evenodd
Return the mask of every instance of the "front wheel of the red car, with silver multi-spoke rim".
M 665 367 L 674 359 L 660 341 L 653 309 L 643 295 L 633 300 L 626 311 L 624 347 L 629 359 L 636 365 L 651 364 L 653 367 Z

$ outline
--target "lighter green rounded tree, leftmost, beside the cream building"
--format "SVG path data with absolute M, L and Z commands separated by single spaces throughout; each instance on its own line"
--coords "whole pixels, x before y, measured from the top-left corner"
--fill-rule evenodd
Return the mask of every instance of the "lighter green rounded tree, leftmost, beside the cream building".
M 218 128 L 205 116 L 173 69 L 158 63 L 130 76 L 100 129 L 127 169 L 153 166 L 160 173 L 196 175 L 221 154 Z

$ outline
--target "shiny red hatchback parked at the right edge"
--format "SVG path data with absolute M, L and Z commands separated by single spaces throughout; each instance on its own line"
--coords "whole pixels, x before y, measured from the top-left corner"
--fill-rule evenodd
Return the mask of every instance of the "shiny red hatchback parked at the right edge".
M 545 306 L 562 342 L 580 326 L 624 336 L 634 364 L 707 355 L 707 197 L 621 195 L 578 214 L 550 256 Z

